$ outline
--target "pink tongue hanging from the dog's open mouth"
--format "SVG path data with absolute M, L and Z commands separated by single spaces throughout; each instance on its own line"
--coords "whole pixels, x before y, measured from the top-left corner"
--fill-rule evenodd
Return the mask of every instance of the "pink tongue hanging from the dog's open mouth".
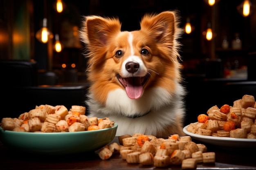
M 125 88 L 126 94 L 130 99 L 138 99 L 141 97 L 143 87 L 141 86 L 140 77 L 129 77 L 127 78 L 127 86 Z

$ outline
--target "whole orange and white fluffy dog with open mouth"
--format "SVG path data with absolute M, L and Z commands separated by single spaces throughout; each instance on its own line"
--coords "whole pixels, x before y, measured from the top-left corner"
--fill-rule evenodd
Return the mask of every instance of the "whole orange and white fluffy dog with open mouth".
M 117 136 L 184 135 L 177 17 L 173 11 L 146 14 L 140 25 L 121 31 L 118 18 L 84 17 L 89 116 L 117 122 Z

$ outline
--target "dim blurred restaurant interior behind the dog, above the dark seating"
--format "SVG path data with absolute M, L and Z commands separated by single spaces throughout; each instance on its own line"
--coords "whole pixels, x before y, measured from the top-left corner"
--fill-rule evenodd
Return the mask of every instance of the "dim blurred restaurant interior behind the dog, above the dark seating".
M 215 2 L 209 4 L 209 2 Z M 62 11 L 57 4 L 62 3 Z M 256 51 L 256 0 L 0 0 L 0 59 L 36 60 L 42 70 L 85 70 L 78 30 L 83 15 L 118 16 L 123 30 L 139 29 L 145 13 L 177 10 L 184 33 L 181 55 L 184 73 L 211 77 L 246 77 L 247 55 Z M 249 3 L 249 15 L 243 4 Z M 212 2 L 211 2 L 212 3 Z M 45 23 L 44 23 L 45 22 Z M 44 25 L 45 24 L 45 25 Z M 49 40 L 36 34 L 43 27 Z M 212 38 L 207 40 L 207 29 Z M 55 43 L 61 43 L 57 52 Z M 215 61 L 221 70 L 202 64 Z M 217 64 L 217 65 L 218 65 Z

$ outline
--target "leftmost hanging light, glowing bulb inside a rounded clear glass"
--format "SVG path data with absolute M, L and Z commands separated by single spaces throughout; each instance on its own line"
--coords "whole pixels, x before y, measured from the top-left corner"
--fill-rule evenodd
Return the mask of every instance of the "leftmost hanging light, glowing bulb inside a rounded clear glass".
M 43 19 L 43 27 L 36 32 L 36 38 L 42 43 L 47 43 L 49 39 L 53 38 L 53 34 L 47 29 L 47 19 Z

